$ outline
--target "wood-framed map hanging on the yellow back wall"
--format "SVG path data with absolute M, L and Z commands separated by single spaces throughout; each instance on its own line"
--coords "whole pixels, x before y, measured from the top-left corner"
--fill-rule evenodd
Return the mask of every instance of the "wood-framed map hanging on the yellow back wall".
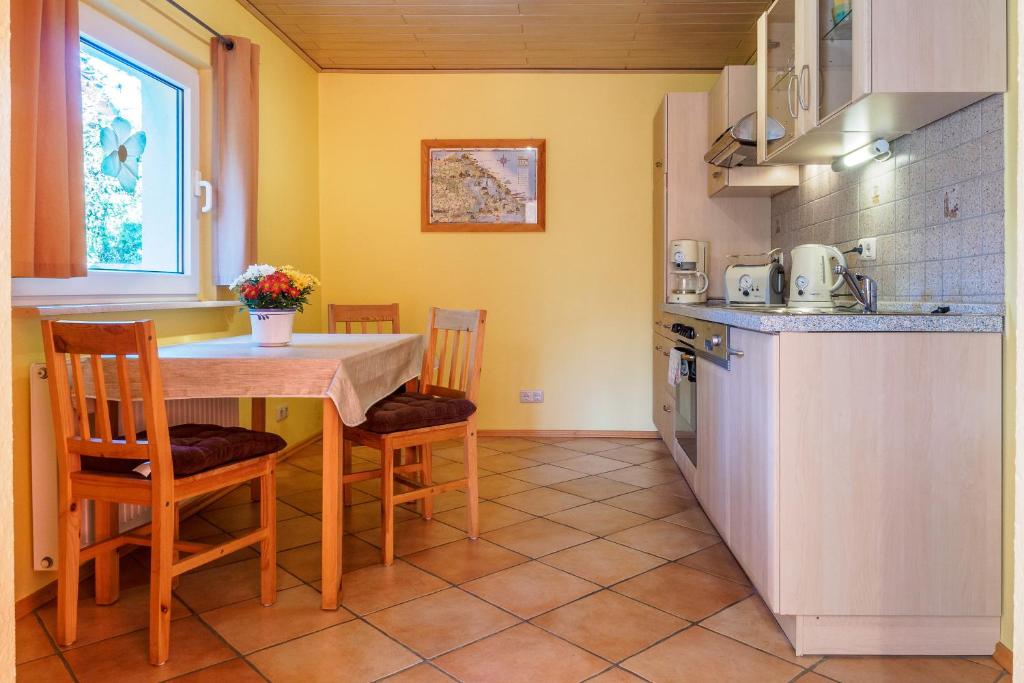
M 424 232 L 543 232 L 544 140 L 423 140 Z

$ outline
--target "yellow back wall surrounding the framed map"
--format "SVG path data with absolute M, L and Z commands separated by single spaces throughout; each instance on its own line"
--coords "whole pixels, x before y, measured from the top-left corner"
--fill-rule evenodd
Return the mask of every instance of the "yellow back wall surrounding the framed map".
M 326 301 L 487 309 L 482 429 L 652 430 L 651 134 L 695 75 L 321 75 Z M 547 231 L 420 231 L 420 140 L 547 140 Z M 521 404 L 519 389 L 545 402 Z

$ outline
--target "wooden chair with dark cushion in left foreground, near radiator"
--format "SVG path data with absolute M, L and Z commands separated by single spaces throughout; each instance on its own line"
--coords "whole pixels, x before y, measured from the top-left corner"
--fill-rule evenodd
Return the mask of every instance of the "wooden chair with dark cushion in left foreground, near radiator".
M 168 428 L 157 334 L 152 321 L 44 321 L 43 347 L 57 449 L 57 644 L 71 645 L 76 639 L 82 562 L 93 558 L 96 561 L 97 604 L 117 601 L 118 549 L 122 546 L 151 549 L 151 664 L 167 660 L 171 584 L 181 573 L 259 544 L 260 601 L 264 605 L 273 604 L 276 599 L 274 461 L 276 452 L 284 446 L 281 437 L 213 425 Z M 116 390 L 109 391 L 108 383 Z M 95 398 L 91 424 L 88 396 Z M 138 434 L 133 404 L 128 402 L 137 399 L 141 399 L 145 419 L 145 431 Z M 123 437 L 114 436 L 117 425 L 112 424 L 116 420 L 111 419 L 109 400 L 120 400 L 126 407 L 117 411 L 124 425 Z M 172 441 L 175 433 L 184 432 L 194 434 L 187 445 L 183 440 Z M 226 458 L 222 450 L 204 450 L 200 433 L 213 436 L 221 444 L 224 438 L 230 438 L 232 450 L 228 457 L 234 460 L 207 467 L 211 460 Z M 132 469 L 145 462 L 151 466 L 148 478 Z M 195 473 L 176 478 L 175 468 Z M 263 494 L 258 529 L 216 546 L 177 540 L 179 501 L 254 478 L 260 480 Z M 81 548 L 82 503 L 86 499 L 94 501 L 95 541 Z M 150 506 L 152 522 L 142 529 L 118 533 L 119 503 Z M 148 536 L 143 536 L 146 530 Z M 181 553 L 186 555 L 183 559 L 179 559 Z

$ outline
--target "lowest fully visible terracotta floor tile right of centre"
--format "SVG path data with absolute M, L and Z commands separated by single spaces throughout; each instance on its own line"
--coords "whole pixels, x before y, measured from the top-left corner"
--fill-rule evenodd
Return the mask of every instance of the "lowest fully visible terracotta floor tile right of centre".
M 611 661 L 636 654 L 689 625 L 609 591 L 588 595 L 532 623 Z

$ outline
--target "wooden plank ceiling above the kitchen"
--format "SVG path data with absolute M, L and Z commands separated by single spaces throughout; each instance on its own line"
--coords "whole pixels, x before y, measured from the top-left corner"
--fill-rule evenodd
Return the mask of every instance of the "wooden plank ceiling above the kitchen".
M 745 62 L 768 0 L 248 0 L 331 70 L 711 70 Z M 245 4 L 245 3 L 243 3 Z

